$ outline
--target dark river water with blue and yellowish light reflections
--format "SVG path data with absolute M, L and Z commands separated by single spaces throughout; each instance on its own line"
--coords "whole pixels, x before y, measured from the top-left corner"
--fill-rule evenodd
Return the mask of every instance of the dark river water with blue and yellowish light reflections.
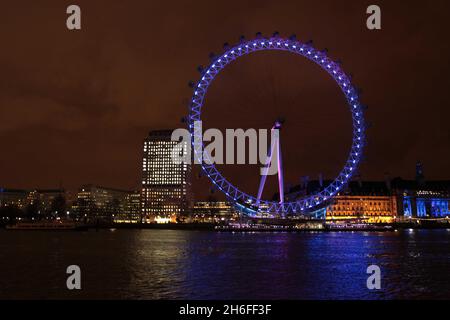
M 69 265 L 81 290 L 66 288 Z M 450 230 L 0 230 L 0 298 L 450 299 Z

